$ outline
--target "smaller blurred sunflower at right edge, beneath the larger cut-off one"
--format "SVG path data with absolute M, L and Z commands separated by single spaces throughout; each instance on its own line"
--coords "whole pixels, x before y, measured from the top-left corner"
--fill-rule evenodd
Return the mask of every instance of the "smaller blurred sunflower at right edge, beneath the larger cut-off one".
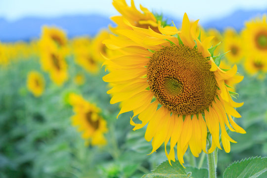
M 267 73 L 267 60 L 262 56 L 247 56 L 245 59 L 244 68 L 249 75 L 258 74 L 259 79 L 264 79 Z

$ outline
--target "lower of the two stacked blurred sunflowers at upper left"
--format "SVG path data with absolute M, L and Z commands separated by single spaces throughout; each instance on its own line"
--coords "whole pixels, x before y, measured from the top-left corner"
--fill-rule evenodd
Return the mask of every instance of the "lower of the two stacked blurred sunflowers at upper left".
M 58 48 L 49 46 L 41 51 L 41 63 L 44 71 L 50 74 L 51 80 L 61 86 L 67 79 L 67 63 Z

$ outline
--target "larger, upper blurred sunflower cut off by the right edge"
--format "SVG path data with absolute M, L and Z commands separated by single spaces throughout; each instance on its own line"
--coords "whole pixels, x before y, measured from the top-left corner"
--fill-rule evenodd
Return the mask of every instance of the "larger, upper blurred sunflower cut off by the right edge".
M 267 15 L 246 22 L 242 38 L 245 51 L 267 56 Z

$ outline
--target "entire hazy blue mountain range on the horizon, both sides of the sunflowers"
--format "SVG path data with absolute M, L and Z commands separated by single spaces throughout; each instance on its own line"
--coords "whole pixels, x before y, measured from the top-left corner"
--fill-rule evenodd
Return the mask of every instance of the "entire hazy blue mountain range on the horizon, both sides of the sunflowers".
M 210 20 L 202 24 L 202 26 L 204 28 L 216 28 L 220 31 L 223 31 L 226 27 L 232 27 L 240 31 L 244 27 L 245 21 L 264 13 L 267 14 L 267 9 L 250 11 L 238 10 L 223 18 Z M 171 16 L 167 16 L 167 18 L 169 20 L 174 20 L 177 25 L 181 22 L 177 18 L 171 18 Z M 69 38 L 82 35 L 94 36 L 100 29 L 107 28 L 109 24 L 114 26 L 108 17 L 101 15 L 74 15 L 49 19 L 28 17 L 14 22 L 8 22 L 0 18 L 0 41 L 29 41 L 39 38 L 43 25 L 60 27 L 67 32 Z

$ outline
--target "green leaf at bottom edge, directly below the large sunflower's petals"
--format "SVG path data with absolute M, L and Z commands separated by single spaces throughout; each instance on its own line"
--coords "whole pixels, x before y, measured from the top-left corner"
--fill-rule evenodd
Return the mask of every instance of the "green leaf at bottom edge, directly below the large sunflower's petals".
M 197 169 L 190 166 L 184 169 L 178 161 L 172 162 L 172 166 L 168 161 L 165 161 L 142 178 L 208 178 L 208 176 L 207 169 Z

